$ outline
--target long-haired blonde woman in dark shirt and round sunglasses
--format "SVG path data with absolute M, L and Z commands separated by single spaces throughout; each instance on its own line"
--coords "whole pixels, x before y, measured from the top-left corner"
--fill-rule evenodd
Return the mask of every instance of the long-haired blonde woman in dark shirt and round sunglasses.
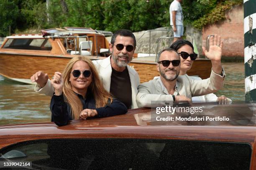
M 51 84 L 54 87 L 51 119 L 58 126 L 73 119 L 108 117 L 127 112 L 126 106 L 104 89 L 94 64 L 84 56 L 72 58 L 63 74 L 54 74 Z

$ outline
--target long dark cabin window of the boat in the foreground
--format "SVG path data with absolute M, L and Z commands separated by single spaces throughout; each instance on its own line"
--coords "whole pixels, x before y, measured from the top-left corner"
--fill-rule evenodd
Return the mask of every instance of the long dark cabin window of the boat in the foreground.
M 5 147 L 0 161 L 46 170 L 249 170 L 251 155 L 251 145 L 235 142 L 49 139 Z

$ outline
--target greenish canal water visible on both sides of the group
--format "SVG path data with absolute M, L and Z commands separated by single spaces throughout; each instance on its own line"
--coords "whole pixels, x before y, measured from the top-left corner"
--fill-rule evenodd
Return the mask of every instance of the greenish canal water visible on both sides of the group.
M 244 64 L 223 63 L 225 86 L 216 93 L 244 100 Z M 34 92 L 33 85 L 15 83 L 0 76 L 0 125 L 50 122 L 50 97 Z

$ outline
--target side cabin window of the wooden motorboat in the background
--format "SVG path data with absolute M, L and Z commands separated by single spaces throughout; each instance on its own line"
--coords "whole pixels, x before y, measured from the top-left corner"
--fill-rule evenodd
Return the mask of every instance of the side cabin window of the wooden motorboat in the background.
M 41 51 L 51 51 L 51 43 L 49 43 L 46 38 L 10 38 L 5 43 L 3 48 L 8 49 L 20 49 L 20 50 L 41 50 Z

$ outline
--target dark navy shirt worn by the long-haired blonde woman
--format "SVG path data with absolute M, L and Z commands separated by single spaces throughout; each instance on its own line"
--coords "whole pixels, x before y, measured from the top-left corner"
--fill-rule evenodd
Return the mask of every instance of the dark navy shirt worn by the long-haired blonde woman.
M 80 101 L 82 102 L 83 109 L 95 109 L 98 113 L 95 117 L 98 118 L 125 114 L 127 112 L 125 105 L 117 99 L 113 99 L 112 103 L 106 105 L 105 107 L 96 108 L 95 99 L 92 95 L 87 95 L 85 99 L 80 94 L 77 94 L 77 97 L 79 97 Z M 73 120 L 71 107 L 67 102 L 64 101 L 63 94 L 60 96 L 53 95 L 51 97 L 50 109 L 51 121 L 58 126 L 64 126 L 69 120 Z

